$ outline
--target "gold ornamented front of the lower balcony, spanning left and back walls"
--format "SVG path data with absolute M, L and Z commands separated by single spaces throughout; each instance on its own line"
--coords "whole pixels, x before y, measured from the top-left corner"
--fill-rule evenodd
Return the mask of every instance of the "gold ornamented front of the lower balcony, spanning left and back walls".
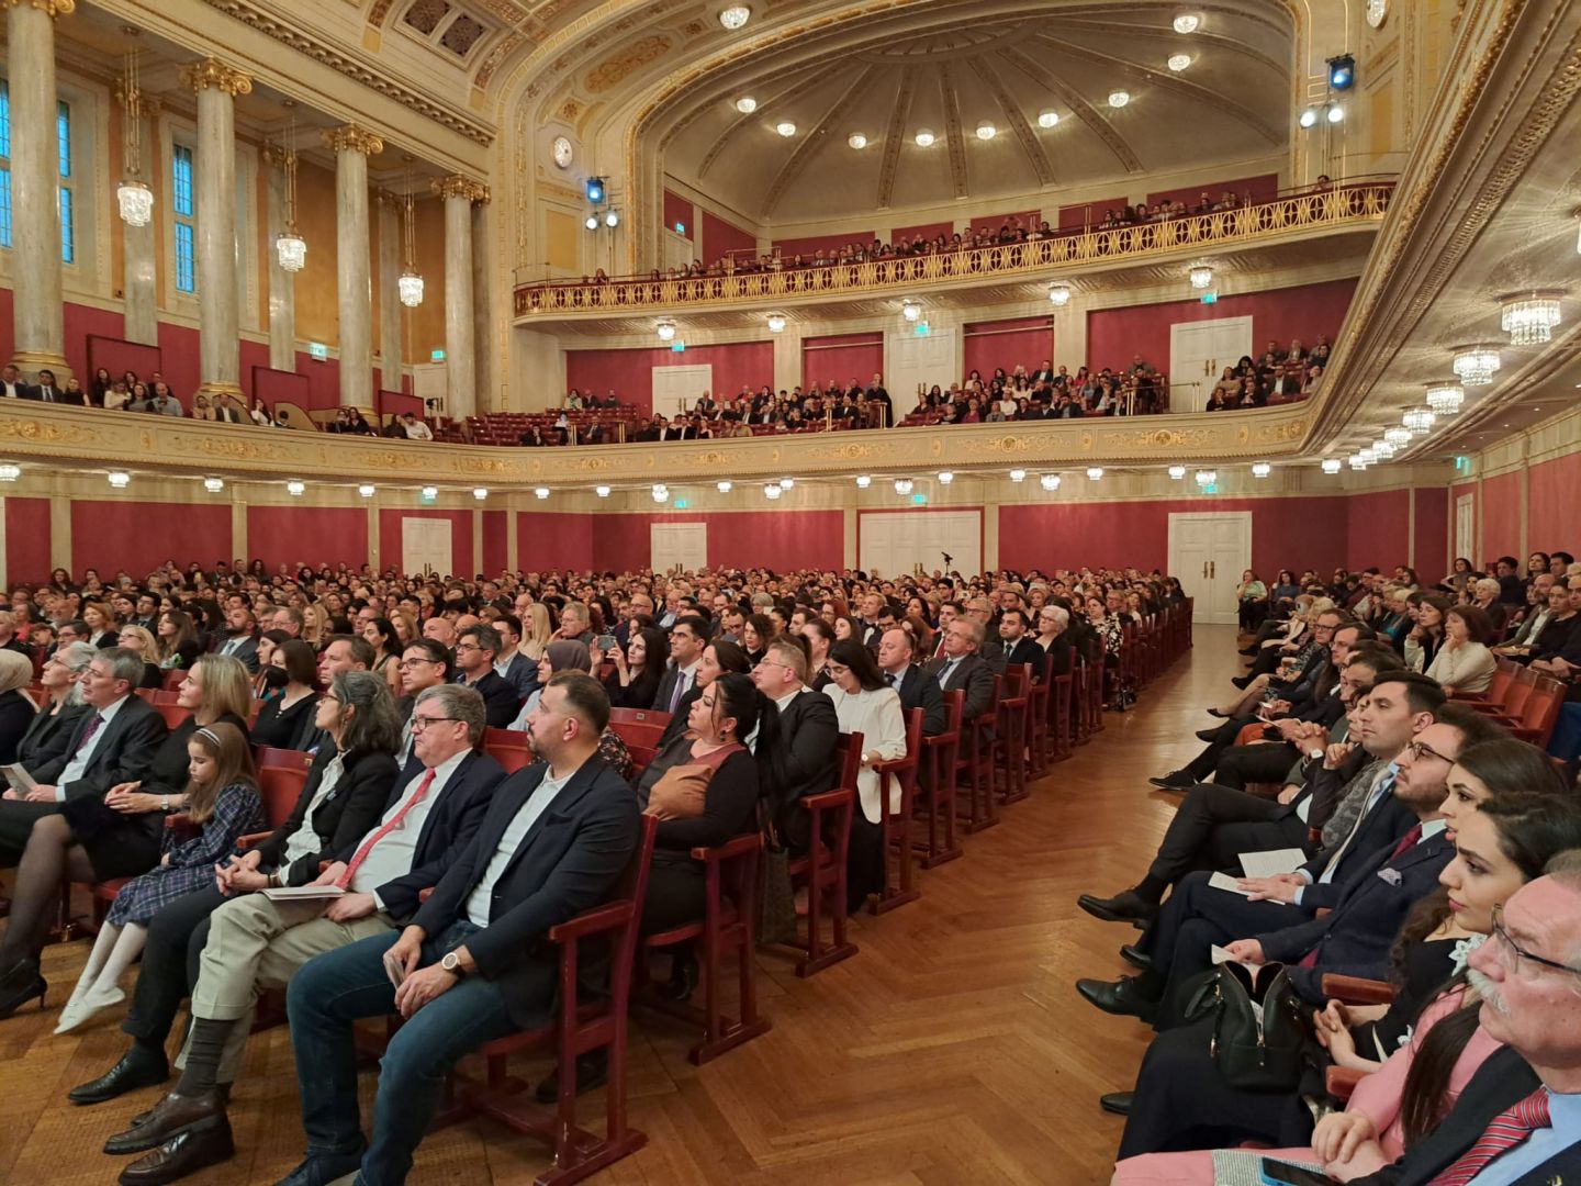
M 972 424 L 944 429 L 876 429 L 784 436 L 667 441 L 662 444 L 511 449 L 500 446 L 391 444 L 383 438 L 308 430 L 177 421 L 147 413 L 33 405 L 0 419 L 0 460 L 133 473 L 316 479 L 335 485 L 476 484 L 501 490 L 534 485 L 642 482 L 688 474 L 708 481 L 854 473 L 917 474 L 934 470 L 999 471 L 1012 466 L 1170 465 L 1295 457 L 1309 408 L 1293 403 L 1244 413 L 1190 413 L 1137 419 Z

